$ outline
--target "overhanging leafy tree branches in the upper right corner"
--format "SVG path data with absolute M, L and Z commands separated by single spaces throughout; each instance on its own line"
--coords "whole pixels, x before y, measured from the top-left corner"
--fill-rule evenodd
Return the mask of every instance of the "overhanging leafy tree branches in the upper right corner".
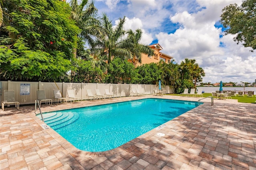
M 256 49 L 256 0 L 243 0 L 241 6 L 230 4 L 220 17 L 226 34 L 236 35 L 234 41 Z

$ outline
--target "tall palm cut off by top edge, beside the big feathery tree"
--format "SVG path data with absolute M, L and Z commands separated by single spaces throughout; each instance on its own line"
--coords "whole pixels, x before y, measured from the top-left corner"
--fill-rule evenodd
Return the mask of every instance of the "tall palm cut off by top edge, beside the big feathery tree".
M 82 37 L 89 44 L 92 43 L 92 36 L 96 35 L 97 23 L 96 19 L 97 8 L 94 6 L 94 1 L 82 0 L 81 4 L 78 4 L 77 0 L 70 1 L 70 7 L 72 8 L 71 16 L 76 21 L 76 25 L 81 29 L 80 37 Z M 77 40 L 74 41 L 74 57 L 76 57 Z

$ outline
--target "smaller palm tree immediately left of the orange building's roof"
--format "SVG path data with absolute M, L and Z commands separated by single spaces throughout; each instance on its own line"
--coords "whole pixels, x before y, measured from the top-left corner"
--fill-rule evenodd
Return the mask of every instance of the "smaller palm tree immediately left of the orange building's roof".
M 148 45 L 144 45 L 140 43 L 142 30 L 137 29 L 135 32 L 132 30 L 127 31 L 128 37 L 124 43 L 124 46 L 129 46 L 128 49 L 132 53 L 132 63 L 135 65 L 136 60 L 141 63 L 142 53 L 147 54 L 148 56 L 152 56 L 154 51 L 152 48 L 148 47 Z

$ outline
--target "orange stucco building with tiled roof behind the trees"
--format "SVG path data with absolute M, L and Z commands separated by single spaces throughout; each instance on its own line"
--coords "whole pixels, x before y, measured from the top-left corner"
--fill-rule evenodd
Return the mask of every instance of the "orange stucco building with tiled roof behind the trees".
M 170 63 L 173 57 L 165 53 L 161 53 L 160 50 L 162 50 L 162 47 L 158 43 L 149 45 L 149 47 L 154 50 L 154 56 L 142 54 L 141 63 L 136 61 L 135 67 L 142 64 L 158 63 L 160 60 L 163 60 L 165 63 Z

